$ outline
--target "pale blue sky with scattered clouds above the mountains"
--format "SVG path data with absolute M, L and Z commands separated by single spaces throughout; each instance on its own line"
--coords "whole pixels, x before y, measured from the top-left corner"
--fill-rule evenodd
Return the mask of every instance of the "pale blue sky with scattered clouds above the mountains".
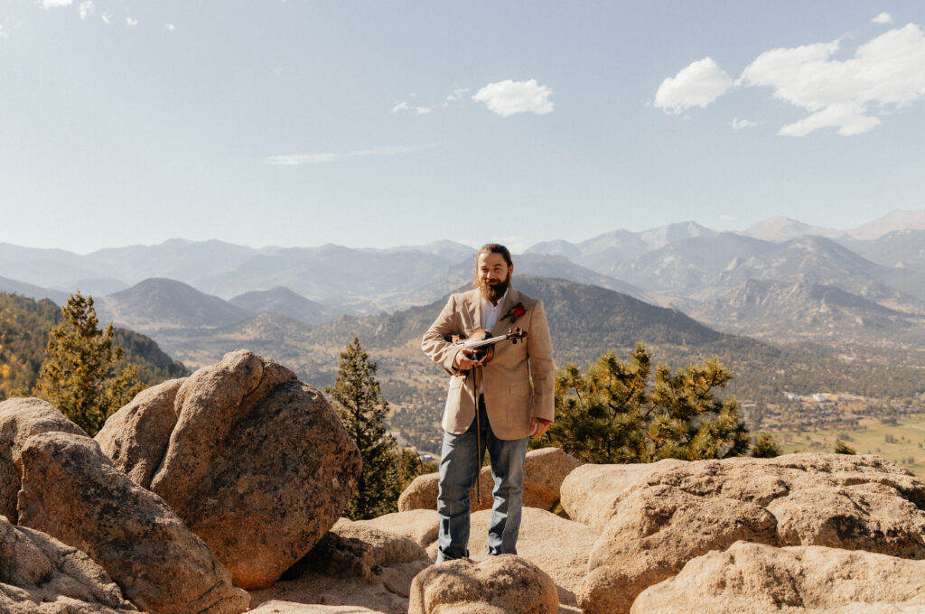
M 925 3 L 0 0 L 0 241 L 515 249 L 923 209 Z

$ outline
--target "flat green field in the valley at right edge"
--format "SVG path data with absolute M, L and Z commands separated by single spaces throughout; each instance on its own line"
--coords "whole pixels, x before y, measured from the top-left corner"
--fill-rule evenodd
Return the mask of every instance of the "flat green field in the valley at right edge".
M 877 454 L 899 463 L 919 476 L 925 476 L 925 415 L 904 416 L 896 424 L 871 418 L 855 429 L 831 429 L 794 433 L 771 433 L 784 454 L 793 452 L 831 452 L 842 439 L 858 454 Z M 912 459 L 911 464 L 909 459 Z

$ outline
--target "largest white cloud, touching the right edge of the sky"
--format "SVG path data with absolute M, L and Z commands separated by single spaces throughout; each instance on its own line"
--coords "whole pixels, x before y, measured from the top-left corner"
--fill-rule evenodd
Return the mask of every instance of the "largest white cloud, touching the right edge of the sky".
M 844 61 L 832 59 L 839 46 L 773 49 L 759 55 L 738 83 L 770 86 L 775 98 L 811 113 L 780 129 L 784 136 L 821 128 L 861 134 L 882 123 L 876 116 L 925 97 L 925 34 L 915 24 L 884 32 Z

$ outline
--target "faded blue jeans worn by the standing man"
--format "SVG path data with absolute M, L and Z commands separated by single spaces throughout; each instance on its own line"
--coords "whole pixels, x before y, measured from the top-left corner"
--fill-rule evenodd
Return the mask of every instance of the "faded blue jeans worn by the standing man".
M 488 526 L 488 555 L 517 554 L 524 495 L 524 458 L 530 437 L 499 439 L 488 424 L 485 401 L 479 399 L 478 405 L 479 420 L 473 420 L 465 433 L 443 433 L 437 498 L 440 515 L 438 563 L 469 556 L 469 490 L 475 485 L 486 449 L 491 460 L 491 476 L 495 480 Z M 481 449 L 477 449 L 476 425 L 479 423 L 482 427 Z

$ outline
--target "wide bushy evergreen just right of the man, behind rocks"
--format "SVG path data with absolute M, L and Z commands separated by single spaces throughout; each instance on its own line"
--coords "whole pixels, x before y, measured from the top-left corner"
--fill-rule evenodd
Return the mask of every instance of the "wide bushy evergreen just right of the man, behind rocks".
M 738 456 L 748 450 L 748 431 L 734 399 L 716 399 L 732 375 L 716 359 L 672 375 L 655 370 L 643 344 L 628 362 L 609 352 L 586 374 L 569 364 L 556 376 L 556 422 L 535 446 L 563 448 L 593 463 L 685 461 Z

